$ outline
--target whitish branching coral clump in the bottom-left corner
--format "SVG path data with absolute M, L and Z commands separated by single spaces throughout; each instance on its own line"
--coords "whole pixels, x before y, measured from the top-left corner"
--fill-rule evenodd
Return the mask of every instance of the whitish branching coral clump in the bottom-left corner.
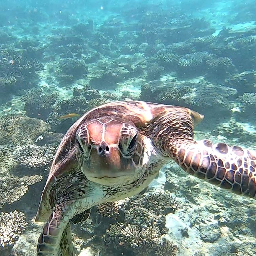
M 27 227 L 25 219 L 25 214 L 17 210 L 0 214 L 0 251 L 1 247 L 12 246 L 19 239 Z

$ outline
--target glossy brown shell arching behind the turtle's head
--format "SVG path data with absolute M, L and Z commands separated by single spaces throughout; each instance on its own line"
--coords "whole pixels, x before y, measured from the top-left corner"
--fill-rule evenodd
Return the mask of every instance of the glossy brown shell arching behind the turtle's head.
M 147 127 L 150 129 L 150 124 L 157 122 L 157 118 L 172 111 L 189 114 L 195 125 L 204 118 L 203 115 L 188 108 L 143 101 L 111 102 L 85 113 L 68 129 L 60 143 L 41 196 L 36 221 L 45 221 L 52 212 L 50 206 L 52 198 L 49 196 L 52 185 L 58 179 L 79 168 L 75 145 L 76 132 L 81 124 L 105 116 L 114 116 L 132 122 L 139 130 L 145 130 Z M 155 127 L 155 125 L 153 127 Z

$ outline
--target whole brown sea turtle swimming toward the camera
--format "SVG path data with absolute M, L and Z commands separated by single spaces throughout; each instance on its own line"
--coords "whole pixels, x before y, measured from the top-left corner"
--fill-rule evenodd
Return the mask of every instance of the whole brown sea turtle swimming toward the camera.
M 196 142 L 203 115 L 179 106 L 119 101 L 94 108 L 63 137 L 36 221 L 46 221 L 37 256 L 74 255 L 69 221 L 83 221 L 103 202 L 146 188 L 170 159 L 198 178 L 255 198 L 256 152 Z

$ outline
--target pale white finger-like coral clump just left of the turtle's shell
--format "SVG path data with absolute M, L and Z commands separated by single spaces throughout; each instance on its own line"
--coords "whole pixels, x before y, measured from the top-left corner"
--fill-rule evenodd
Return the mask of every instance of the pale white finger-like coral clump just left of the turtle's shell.
M 40 168 L 42 166 L 49 167 L 56 154 L 58 145 L 48 144 L 44 146 L 23 145 L 17 147 L 13 156 L 20 165 L 28 168 Z

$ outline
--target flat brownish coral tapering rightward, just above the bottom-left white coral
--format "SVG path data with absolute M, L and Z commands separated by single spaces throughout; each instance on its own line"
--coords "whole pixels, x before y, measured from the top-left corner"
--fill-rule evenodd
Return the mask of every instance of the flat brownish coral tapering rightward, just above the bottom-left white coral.
M 40 182 L 41 175 L 17 177 L 13 175 L 0 177 L 0 209 L 5 204 L 18 201 L 28 190 L 28 186 Z

